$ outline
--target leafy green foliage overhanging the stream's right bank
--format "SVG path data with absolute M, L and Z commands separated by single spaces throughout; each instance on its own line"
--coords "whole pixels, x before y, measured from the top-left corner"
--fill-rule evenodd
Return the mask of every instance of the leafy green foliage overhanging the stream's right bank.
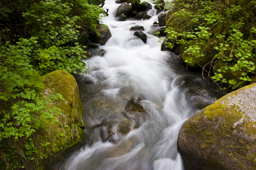
M 188 65 L 207 67 L 220 88 L 241 87 L 255 74 L 255 4 L 176 0 L 167 15 L 165 45 L 180 46 Z

